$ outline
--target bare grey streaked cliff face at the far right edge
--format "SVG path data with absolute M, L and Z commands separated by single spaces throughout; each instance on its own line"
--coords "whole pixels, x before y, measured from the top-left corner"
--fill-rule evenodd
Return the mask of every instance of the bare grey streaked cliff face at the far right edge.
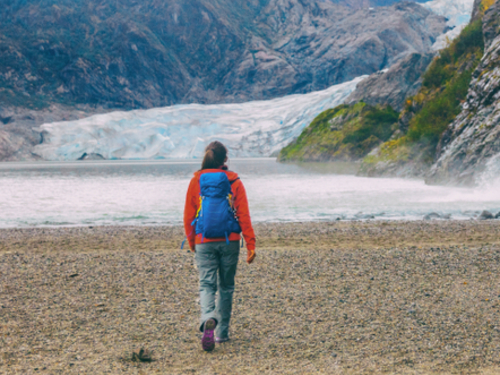
M 500 172 L 500 2 L 483 17 L 485 53 L 463 110 L 443 135 L 427 182 L 474 185 Z M 498 174 L 497 174 L 498 175 Z

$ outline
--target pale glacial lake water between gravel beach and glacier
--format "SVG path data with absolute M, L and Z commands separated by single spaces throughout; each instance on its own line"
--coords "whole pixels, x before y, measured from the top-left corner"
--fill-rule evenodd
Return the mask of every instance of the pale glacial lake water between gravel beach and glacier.
M 196 161 L 1 163 L 0 227 L 180 224 Z M 347 165 L 230 162 L 254 222 L 471 219 L 500 211 L 500 179 L 475 189 L 362 178 Z

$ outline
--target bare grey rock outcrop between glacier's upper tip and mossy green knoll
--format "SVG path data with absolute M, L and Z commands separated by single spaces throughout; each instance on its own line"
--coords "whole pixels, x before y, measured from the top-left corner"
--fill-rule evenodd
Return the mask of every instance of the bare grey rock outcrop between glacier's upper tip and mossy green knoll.
M 401 111 L 405 99 L 415 95 L 422 85 L 422 75 L 433 53 L 412 53 L 389 70 L 372 74 L 346 99 L 347 104 L 364 101 L 370 105 L 390 105 Z

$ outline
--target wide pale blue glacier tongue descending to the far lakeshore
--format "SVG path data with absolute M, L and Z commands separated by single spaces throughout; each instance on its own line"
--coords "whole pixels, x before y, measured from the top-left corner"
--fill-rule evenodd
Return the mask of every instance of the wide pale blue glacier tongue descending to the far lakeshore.
M 220 140 L 232 157 L 278 152 L 323 110 L 335 107 L 366 78 L 309 94 L 241 104 L 188 104 L 111 112 L 77 121 L 44 124 L 34 152 L 45 160 L 76 160 L 84 153 L 105 159 L 187 159 Z

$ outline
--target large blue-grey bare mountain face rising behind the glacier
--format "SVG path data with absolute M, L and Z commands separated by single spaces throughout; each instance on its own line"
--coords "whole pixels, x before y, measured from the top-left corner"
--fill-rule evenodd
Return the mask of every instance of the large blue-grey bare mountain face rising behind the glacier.
M 107 108 L 305 93 L 426 52 L 445 20 L 415 3 L 0 1 L 0 101 Z

